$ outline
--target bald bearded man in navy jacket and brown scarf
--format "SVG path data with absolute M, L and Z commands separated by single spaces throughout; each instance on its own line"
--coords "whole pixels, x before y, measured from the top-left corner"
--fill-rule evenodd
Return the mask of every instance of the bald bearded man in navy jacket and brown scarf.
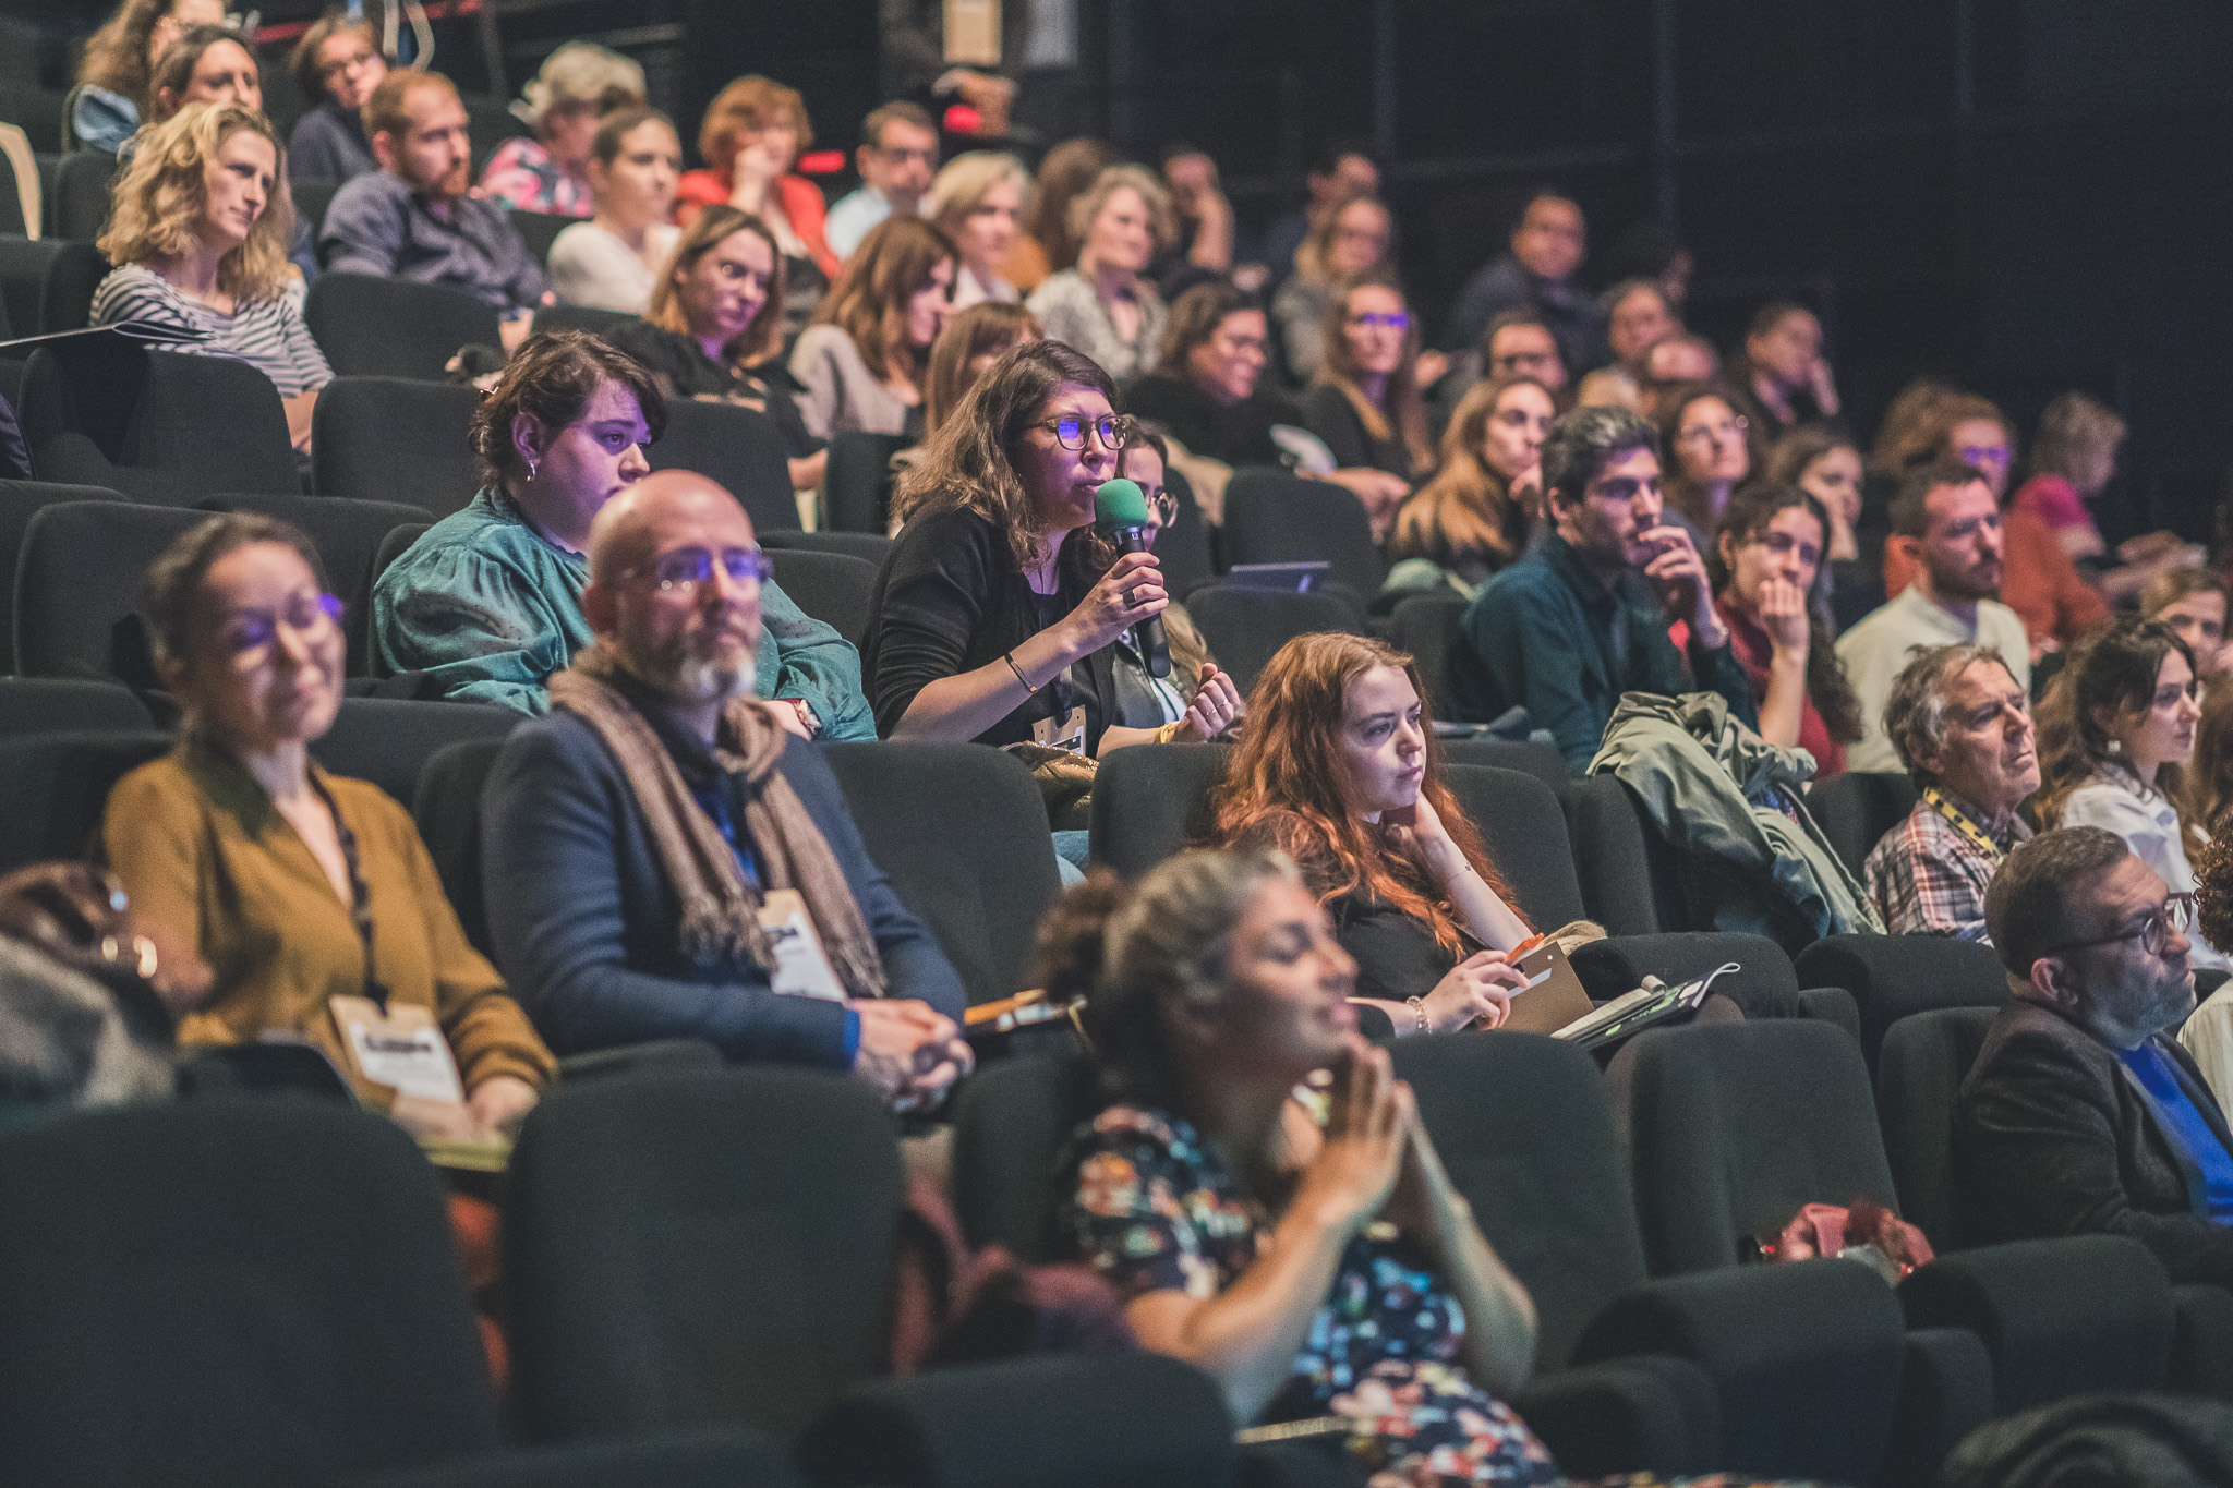
M 496 959 L 560 1053 L 688 1037 L 933 1104 L 971 1062 L 960 977 L 828 765 L 753 698 L 766 571 L 703 475 L 659 471 L 596 513 L 596 642 L 485 794 Z

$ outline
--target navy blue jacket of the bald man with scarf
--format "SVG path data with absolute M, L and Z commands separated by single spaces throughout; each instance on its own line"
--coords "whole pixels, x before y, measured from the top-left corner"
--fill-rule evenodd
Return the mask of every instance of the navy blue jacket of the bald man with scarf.
M 697 741 L 677 741 L 683 779 L 706 770 Z M 697 754 L 697 761 L 692 759 Z M 802 738 L 777 761 L 822 828 L 869 933 L 891 997 L 918 997 L 956 1022 L 967 997 L 931 933 L 869 861 L 837 779 Z M 730 821 L 744 823 L 741 776 L 723 776 Z M 556 1053 L 690 1037 L 728 1060 L 846 1069 L 846 1008 L 786 997 L 750 964 L 701 970 L 679 948 L 681 899 L 621 763 L 578 714 L 558 709 L 505 741 L 482 794 L 482 881 L 489 937 L 511 995 Z

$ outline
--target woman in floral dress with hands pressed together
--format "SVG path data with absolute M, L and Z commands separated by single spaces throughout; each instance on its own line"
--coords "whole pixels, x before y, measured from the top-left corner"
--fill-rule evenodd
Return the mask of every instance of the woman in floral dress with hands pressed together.
M 1355 1481 L 1556 1481 L 1498 1399 L 1534 1303 L 1358 1035 L 1355 962 L 1295 870 L 1188 852 L 1072 890 L 1043 944 L 1116 1098 L 1058 1158 L 1056 1234 L 1139 1343 L 1206 1370 L 1235 1421 L 1346 1417 Z M 1322 1069 L 1324 1129 L 1291 1104 Z

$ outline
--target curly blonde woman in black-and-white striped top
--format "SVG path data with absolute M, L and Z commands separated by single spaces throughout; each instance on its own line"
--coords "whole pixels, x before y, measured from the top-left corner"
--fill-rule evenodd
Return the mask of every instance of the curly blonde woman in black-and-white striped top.
M 261 370 L 286 404 L 295 448 L 333 368 L 286 297 L 295 203 L 279 136 L 237 103 L 190 103 L 150 125 L 116 183 L 100 252 L 118 268 L 94 290 L 94 323 L 192 332 L 176 350 Z

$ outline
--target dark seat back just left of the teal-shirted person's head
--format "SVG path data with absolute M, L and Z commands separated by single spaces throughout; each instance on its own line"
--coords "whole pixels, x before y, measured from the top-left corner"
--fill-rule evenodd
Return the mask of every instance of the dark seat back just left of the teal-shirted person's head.
M 462 511 L 480 489 L 469 444 L 480 393 L 406 377 L 335 377 L 310 413 L 319 495 Z

